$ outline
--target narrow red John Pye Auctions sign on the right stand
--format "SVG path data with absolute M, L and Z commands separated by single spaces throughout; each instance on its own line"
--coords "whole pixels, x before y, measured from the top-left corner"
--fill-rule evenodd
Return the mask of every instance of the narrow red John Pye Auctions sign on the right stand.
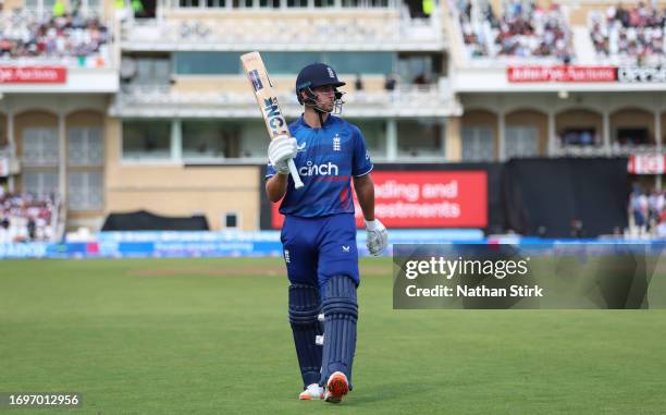
M 510 83 L 531 82 L 615 82 L 615 66 L 507 66 L 506 76 Z

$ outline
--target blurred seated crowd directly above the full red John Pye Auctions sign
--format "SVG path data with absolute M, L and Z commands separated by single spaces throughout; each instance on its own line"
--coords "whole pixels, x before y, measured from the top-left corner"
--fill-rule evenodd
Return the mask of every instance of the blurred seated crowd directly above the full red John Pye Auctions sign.
M 544 8 L 533 1 L 526 5 L 519 0 L 511 0 L 506 4 L 502 17 L 497 19 L 488 3 L 481 13 L 482 22 L 473 21 L 469 0 L 460 0 L 458 10 L 462 37 L 472 57 L 553 57 L 564 62 L 571 60 L 571 33 L 558 4 Z

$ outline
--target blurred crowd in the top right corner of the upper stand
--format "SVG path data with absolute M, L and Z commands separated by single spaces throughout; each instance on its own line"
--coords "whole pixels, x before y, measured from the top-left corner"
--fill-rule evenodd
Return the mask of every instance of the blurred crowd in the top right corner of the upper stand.
M 666 10 L 640 2 L 625 9 L 621 3 L 590 15 L 590 36 L 597 54 L 634 58 L 638 63 L 663 63 Z

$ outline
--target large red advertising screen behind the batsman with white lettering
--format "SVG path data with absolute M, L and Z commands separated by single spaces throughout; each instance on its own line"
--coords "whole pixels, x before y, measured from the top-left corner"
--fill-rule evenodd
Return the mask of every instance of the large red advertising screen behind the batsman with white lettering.
M 485 228 L 488 174 L 484 171 L 375 171 L 374 215 L 387 228 Z M 280 204 L 272 227 L 282 228 Z M 356 224 L 363 227 L 354 197 Z

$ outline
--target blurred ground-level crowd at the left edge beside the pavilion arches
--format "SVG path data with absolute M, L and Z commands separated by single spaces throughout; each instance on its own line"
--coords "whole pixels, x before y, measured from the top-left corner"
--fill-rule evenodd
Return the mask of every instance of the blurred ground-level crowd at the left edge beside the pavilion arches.
M 0 243 L 51 240 L 55 206 L 53 198 L 9 194 L 0 186 Z

